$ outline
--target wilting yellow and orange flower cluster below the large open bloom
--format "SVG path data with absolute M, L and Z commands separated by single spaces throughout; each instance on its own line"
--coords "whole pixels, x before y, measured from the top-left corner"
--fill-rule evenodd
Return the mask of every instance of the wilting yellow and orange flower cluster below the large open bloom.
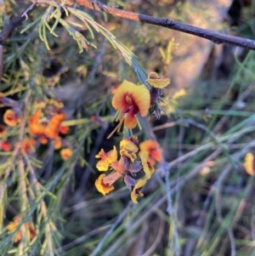
M 116 146 L 113 150 L 105 152 L 103 149 L 99 151 L 96 158 L 100 158 L 96 165 L 99 172 L 107 172 L 112 169 L 111 174 L 101 174 L 99 179 L 95 181 L 95 186 L 104 196 L 114 190 L 113 183 L 117 179 L 122 178 L 127 188 L 131 191 L 131 199 L 137 203 L 138 196 L 144 196 L 141 189 L 154 173 L 155 161 L 161 161 L 161 148 L 156 141 L 145 140 L 139 145 L 137 137 L 130 139 L 122 139 L 120 142 L 120 158 Z M 139 151 L 139 160 L 137 153 Z M 140 179 L 134 179 L 141 177 Z

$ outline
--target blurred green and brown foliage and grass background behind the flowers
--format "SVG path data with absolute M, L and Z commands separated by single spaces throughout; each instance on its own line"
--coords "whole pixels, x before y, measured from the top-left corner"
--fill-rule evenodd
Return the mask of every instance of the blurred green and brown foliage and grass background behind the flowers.
M 29 3 L 1 0 L 0 26 Z M 254 39 L 253 0 L 103 3 Z M 254 52 L 72 7 L 93 17 L 87 26 L 41 1 L 4 45 L 1 92 L 18 102 L 21 120 L 7 127 L 8 107 L 0 109 L 0 254 L 255 255 L 255 185 L 243 167 L 255 153 Z M 171 78 L 166 112 L 134 134 L 156 139 L 164 159 L 133 205 L 121 183 L 107 196 L 96 191 L 94 156 L 122 139 L 106 139 L 116 126 L 112 89 L 150 71 Z M 25 153 L 14 146 L 31 135 L 27 122 L 45 99 L 64 103 L 67 161 L 50 141 Z

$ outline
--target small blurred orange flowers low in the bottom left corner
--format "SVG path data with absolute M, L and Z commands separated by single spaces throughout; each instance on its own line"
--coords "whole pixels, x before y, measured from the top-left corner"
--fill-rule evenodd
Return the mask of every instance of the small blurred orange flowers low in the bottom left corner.
M 21 216 L 18 215 L 14 218 L 14 221 L 11 221 L 8 224 L 8 226 L 7 226 L 8 231 L 14 232 L 14 230 L 16 230 L 16 228 L 20 225 L 20 222 L 21 222 Z M 21 231 L 22 227 L 24 227 L 25 230 L 28 230 L 30 240 L 32 240 L 37 235 L 35 225 L 31 222 L 26 222 L 25 224 L 20 226 L 20 230 L 14 236 L 14 242 L 19 242 L 22 239 L 22 236 L 24 236 L 24 234 L 22 234 L 22 231 Z

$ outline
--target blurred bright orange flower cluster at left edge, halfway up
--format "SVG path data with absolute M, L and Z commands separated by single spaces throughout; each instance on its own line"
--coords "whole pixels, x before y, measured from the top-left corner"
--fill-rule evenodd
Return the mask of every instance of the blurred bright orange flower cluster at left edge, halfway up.
M 20 123 L 20 105 L 16 100 L 4 97 L 0 94 L 0 104 L 10 107 L 3 114 L 3 122 L 8 127 L 15 127 Z M 63 149 L 60 155 L 63 160 L 67 160 L 71 155 L 71 147 L 59 134 L 67 134 L 69 127 L 63 126 L 65 121 L 65 112 L 61 111 L 63 103 L 59 100 L 37 100 L 33 109 L 35 112 L 29 117 L 28 123 L 28 139 L 23 139 L 21 143 L 21 150 L 26 153 L 35 151 L 37 141 L 42 145 L 48 143 L 48 140 L 53 141 L 54 149 Z M 3 124 L 0 125 L 0 148 L 3 151 L 10 151 L 12 145 L 6 140 L 8 135 L 8 128 Z M 5 139 L 3 139 L 5 138 Z

